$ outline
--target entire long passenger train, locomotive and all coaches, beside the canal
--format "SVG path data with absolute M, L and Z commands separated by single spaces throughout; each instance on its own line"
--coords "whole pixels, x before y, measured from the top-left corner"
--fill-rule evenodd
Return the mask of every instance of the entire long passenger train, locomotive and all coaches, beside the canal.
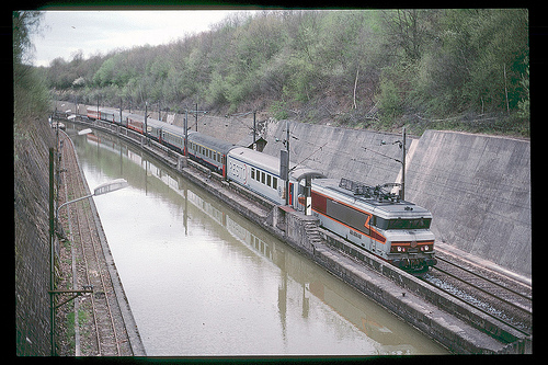
M 90 119 L 102 119 L 185 153 L 224 179 L 247 187 L 276 205 L 311 214 L 320 226 L 353 244 L 414 274 L 436 264 L 432 214 L 426 208 L 399 198 L 387 187 L 368 186 L 345 178 L 327 179 L 321 171 L 289 164 L 289 183 L 281 175 L 279 158 L 222 139 L 187 130 L 162 121 L 90 107 Z M 185 150 L 185 148 L 187 150 Z

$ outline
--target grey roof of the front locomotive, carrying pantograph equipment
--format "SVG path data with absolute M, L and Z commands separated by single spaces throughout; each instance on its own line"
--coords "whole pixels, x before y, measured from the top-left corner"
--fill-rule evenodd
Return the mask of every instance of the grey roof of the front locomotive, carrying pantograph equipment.
M 404 214 L 406 216 L 431 215 L 429 209 L 423 208 L 408 201 L 391 202 L 383 199 L 381 202 L 379 202 L 379 199 L 376 197 L 365 197 L 363 195 L 355 195 L 351 191 L 340 187 L 339 180 L 336 179 L 317 179 L 313 180 L 312 187 L 313 185 L 323 187 L 328 191 L 336 192 L 339 194 L 344 195 L 347 198 L 355 199 L 355 202 L 359 202 L 369 205 L 372 207 L 375 207 L 376 210 L 384 210 L 389 214 L 396 214 L 396 213 L 398 213 L 399 215 Z

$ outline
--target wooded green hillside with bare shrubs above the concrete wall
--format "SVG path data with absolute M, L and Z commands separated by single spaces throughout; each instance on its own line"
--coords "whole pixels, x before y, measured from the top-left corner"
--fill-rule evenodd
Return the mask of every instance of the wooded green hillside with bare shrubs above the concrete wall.
M 79 103 L 528 136 L 528 55 L 527 10 L 289 10 L 39 70 Z

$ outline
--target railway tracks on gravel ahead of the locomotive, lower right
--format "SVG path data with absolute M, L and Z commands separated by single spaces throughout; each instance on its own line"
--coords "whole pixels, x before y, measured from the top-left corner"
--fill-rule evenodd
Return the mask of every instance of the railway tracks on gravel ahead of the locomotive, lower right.
M 423 281 L 525 335 L 533 333 L 530 286 L 439 252 L 436 259 Z

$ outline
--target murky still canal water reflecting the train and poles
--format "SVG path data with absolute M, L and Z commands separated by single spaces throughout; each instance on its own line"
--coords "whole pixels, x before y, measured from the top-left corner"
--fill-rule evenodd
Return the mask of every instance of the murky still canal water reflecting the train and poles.
M 148 355 L 447 353 L 138 148 L 73 140 L 91 189 L 129 183 L 95 205 Z

